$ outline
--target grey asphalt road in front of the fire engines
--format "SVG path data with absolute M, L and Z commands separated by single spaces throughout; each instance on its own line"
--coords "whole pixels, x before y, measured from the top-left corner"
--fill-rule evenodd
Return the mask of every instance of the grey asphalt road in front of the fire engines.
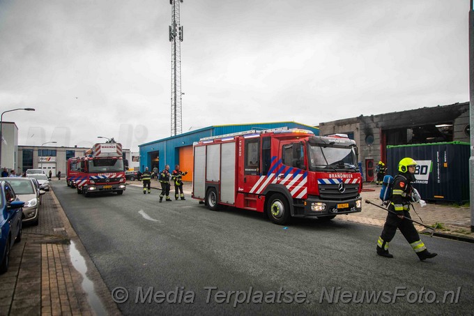
M 420 262 L 398 232 L 390 243 L 395 258 L 387 259 L 376 255 L 379 227 L 337 218 L 282 227 L 260 213 L 210 211 L 190 197 L 158 203 L 158 190 L 143 195 L 132 186 L 123 195 L 84 197 L 61 181 L 54 193 L 107 287 L 119 299 L 128 292 L 118 304 L 123 315 L 438 315 L 474 308 L 472 243 L 422 236 L 438 257 Z M 445 291 L 453 291 L 448 303 Z

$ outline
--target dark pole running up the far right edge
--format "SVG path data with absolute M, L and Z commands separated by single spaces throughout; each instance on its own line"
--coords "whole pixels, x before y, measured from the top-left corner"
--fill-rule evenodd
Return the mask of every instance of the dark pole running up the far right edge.
M 470 202 L 471 207 L 471 232 L 474 232 L 474 133 L 471 130 L 474 126 L 474 0 L 469 9 L 469 132 L 471 135 L 471 158 L 469 158 L 469 180 L 471 185 Z

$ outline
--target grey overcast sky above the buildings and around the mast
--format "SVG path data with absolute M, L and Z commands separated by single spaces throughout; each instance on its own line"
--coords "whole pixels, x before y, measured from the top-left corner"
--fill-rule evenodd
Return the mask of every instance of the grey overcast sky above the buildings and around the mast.
M 184 0 L 183 133 L 468 101 L 468 0 Z M 20 145 L 169 137 L 168 0 L 0 0 Z

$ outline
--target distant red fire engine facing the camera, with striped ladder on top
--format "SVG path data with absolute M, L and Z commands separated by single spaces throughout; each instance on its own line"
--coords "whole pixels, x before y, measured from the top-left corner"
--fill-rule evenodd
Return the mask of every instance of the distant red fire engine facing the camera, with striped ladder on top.
M 125 172 L 123 170 L 122 145 L 119 143 L 95 144 L 84 157 L 70 158 L 72 186 L 77 193 L 89 196 L 94 192 L 112 191 L 123 194 Z M 69 166 L 69 164 L 68 164 Z M 69 181 L 69 180 L 68 180 Z

